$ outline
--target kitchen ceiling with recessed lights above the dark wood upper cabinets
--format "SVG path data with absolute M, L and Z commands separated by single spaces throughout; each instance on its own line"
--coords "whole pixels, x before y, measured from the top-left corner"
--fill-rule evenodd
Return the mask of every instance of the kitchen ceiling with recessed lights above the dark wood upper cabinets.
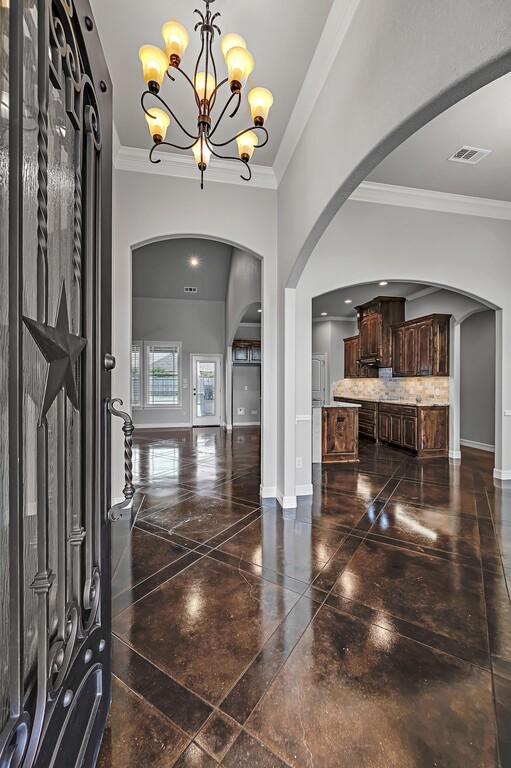
M 385 278 L 383 277 L 382 280 Z M 312 300 L 312 317 L 321 317 L 322 312 L 326 312 L 328 317 L 343 317 L 346 320 L 356 320 L 357 313 L 355 307 L 359 304 L 365 304 L 366 301 L 376 298 L 376 296 L 411 296 L 418 291 L 426 288 L 425 285 L 418 283 L 392 283 L 388 285 L 378 285 L 376 283 L 364 283 L 363 285 L 353 285 L 349 288 L 340 288 L 337 291 L 324 293 Z M 346 304 L 345 299 L 351 299 L 351 304 Z

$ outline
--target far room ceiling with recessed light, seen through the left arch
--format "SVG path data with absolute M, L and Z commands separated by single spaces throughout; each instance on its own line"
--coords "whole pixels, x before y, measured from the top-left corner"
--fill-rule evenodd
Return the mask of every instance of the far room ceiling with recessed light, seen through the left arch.
M 231 255 L 232 246 L 214 240 L 179 238 L 144 245 L 133 251 L 133 296 L 225 301 Z M 198 291 L 185 293 L 185 286 Z

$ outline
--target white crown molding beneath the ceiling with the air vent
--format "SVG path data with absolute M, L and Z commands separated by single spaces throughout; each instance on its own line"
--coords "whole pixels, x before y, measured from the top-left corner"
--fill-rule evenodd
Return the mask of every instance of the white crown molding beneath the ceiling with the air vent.
M 485 197 L 455 195 L 450 192 L 400 187 L 375 181 L 363 181 L 352 193 L 350 200 L 397 205 L 404 208 L 421 208 L 441 213 L 459 213 L 465 216 L 482 216 L 487 219 L 511 219 L 511 202 L 507 200 L 489 200 Z

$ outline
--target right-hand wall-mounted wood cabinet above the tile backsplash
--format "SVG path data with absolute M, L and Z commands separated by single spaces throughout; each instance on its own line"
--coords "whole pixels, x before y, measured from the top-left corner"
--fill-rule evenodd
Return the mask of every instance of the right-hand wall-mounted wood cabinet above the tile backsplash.
M 448 376 L 450 315 L 427 315 L 392 328 L 393 376 Z

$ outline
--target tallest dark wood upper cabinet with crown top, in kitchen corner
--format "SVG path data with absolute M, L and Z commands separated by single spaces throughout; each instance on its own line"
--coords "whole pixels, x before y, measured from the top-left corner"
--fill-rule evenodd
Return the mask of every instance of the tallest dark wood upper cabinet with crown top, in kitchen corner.
M 356 307 L 362 365 L 392 367 L 392 325 L 405 319 L 405 301 L 394 296 L 377 296 Z

